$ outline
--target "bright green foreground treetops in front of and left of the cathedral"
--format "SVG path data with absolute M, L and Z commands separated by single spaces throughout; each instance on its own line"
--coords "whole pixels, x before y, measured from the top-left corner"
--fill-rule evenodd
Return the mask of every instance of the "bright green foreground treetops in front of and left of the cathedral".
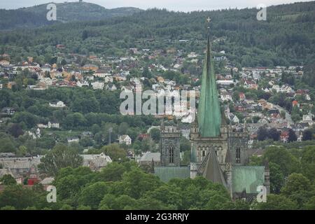
M 0 208 L 15 209 L 248 209 L 232 202 L 227 190 L 202 177 L 162 183 L 134 162 L 113 163 L 102 172 L 87 167 L 63 168 L 53 183 L 57 204 L 43 202 L 41 190 L 7 187 L 0 193 Z M 30 195 L 29 191 L 31 192 Z M 18 201 L 22 194 L 22 202 Z M 31 200 L 31 197 L 33 200 Z M 9 209 L 9 208 L 3 208 Z M 10 208 L 13 209 L 13 208 Z

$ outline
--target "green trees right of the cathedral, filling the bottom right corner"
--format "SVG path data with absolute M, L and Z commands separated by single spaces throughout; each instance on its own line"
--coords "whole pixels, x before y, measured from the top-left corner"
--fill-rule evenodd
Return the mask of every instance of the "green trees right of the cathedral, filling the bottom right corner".
M 286 149 L 269 146 L 262 158 L 252 158 L 251 165 L 262 165 L 269 160 L 270 190 L 267 203 L 255 209 L 311 209 L 314 208 L 314 146 Z M 283 198 L 285 198 L 283 200 Z M 281 200 L 283 202 L 281 202 Z

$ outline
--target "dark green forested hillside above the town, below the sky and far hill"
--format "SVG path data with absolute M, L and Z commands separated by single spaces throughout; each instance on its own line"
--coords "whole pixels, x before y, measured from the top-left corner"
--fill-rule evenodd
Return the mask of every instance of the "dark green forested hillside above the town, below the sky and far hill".
M 214 50 L 225 50 L 237 66 L 306 64 L 315 55 L 315 1 L 267 8 L 267 21 L 257 9 L 175 13 L 146 10 L 127 17 L 70 22 L 38 29 L 0 32 L 0 53 L 21 57 L 63 52 L 123 55 L 128 48 L 178 47 L 202 52 L 205 18 L 211 17 Z M 219 38 L 219 39 L 218 39 Z M 179 42 L 187 39 L 187 42 Z

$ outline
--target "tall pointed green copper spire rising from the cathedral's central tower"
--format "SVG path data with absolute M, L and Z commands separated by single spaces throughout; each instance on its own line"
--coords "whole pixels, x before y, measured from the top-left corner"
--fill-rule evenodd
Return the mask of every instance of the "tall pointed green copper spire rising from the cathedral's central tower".
M 211 42 L 208 36 L 207 53 L 202 72 L 202 87 L 198 107 L 198 125 L 202 137 L 218 137 L 221 128 L 221 108 L 218 102 L 214 63 L 211 55 Z

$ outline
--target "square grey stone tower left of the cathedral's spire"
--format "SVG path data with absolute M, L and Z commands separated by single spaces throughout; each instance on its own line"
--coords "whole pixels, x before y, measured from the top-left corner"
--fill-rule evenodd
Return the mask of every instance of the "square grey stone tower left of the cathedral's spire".
M 181 132 L 176 126 L 161 125 L 160 152 L 162 167 L 180 167 L 180 142 Z

